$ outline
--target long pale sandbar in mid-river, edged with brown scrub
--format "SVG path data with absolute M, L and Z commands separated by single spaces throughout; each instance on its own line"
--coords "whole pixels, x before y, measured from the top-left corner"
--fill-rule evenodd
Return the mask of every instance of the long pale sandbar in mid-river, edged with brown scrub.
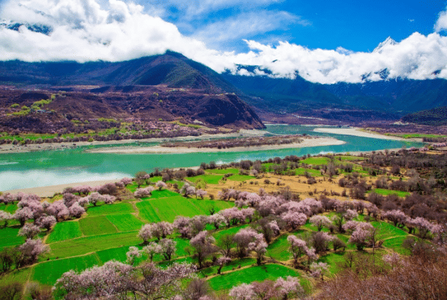
M 193 147 L 115 147 L 107 149 L 91 149 L 92 153 L 120 153 L 120 154 L 141 154 L 141 153 L 211 153 L 211 152 L 240 152 L 240 151 L 266 151 L 274 149 L 293 149 L 316 146 L 332 146 L 344 144 L 343 141 L 335 140 L 331 137 L 306 138 L 301 143 L 282 144 L 282 145 L 263 145 L 256 147 L 234 147 L 227 149 L 215 148 L 193 148 Z

